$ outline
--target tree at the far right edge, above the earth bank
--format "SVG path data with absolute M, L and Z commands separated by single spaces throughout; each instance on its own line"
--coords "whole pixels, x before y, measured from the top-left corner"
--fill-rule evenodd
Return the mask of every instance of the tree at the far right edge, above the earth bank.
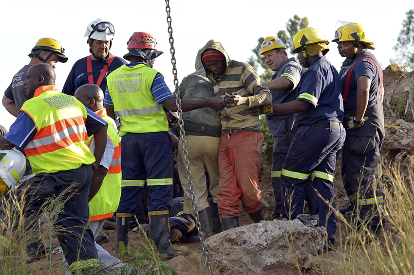
M 404 66 L 414 69 L 414 9 L 407 11 L 407 18 L 402 21 L 402 29 L 394 46 L 395 52 L 401 54 Z

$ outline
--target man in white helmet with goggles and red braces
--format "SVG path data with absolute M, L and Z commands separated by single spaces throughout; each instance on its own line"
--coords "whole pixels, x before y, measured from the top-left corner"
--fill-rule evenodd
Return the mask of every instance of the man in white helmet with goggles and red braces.
M 96 84 L 105 91 L 107 76 L 127 63 L 123 58 L 109 52 L 114 34 L 113 25 L 99 18 L 88 25 L 84 36 L 88 37 L 91 55 L 75 62 L 63 86 L 63 93 L 73 96 L 77 88 L 88 83 Z

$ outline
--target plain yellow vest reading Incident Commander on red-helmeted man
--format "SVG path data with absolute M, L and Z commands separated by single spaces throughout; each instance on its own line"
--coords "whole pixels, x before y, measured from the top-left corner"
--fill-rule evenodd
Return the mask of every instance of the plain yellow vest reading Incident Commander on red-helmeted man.
M 113 110 L 121 118 L 119 135 L 168 131 L 162 104 L 157 104 L 151 85 L 158 71 L 145 64 L 122 65 L 107 77 Z

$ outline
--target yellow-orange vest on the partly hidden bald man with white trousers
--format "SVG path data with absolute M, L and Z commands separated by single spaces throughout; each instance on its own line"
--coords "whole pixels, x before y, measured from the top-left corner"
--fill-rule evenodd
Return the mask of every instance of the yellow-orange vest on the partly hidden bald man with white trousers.
M 89 221 L 100 221 L 112 217 L 121 198 L 121 141 L 118 129 L 115 121 L 106 114 L 105 108 L 97 110 L 95 114 L 108 122 L 107 135 L 111 139 L 115 150 L 102 186 L 89 202 Z M 94 136 L 91 136 L 86 141 L 88 146 L 91 145 L 93 138 Z

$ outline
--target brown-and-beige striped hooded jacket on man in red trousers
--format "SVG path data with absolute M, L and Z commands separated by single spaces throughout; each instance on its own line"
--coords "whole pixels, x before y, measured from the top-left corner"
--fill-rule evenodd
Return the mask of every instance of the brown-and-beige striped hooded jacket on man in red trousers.
M 206 70 L 207 78 L 214 88 L 216 96 L 224 96 L 227 93 L 234 93 L 249 98 L 249 105 L 237 105 L 234 107 L 224 108 L 219 112 L 222 128 L 252 128 L 260 130 L 258 116 L 252 116 L 247 113 L 247 109 L 254 106 L 260 106 L 272 103 L 270 90 L 262 84 L 258 73 L 249 64 L 230 60 L 226 51 L 220 42 L 210 40 L 200 52 L 207 49 L 214 49 L 224 54 L 226 57 L 226 69 L 224 75 L 219 79 L 214 79 L 213 72 L 207 69 L 206 64 L 202 62 Z

